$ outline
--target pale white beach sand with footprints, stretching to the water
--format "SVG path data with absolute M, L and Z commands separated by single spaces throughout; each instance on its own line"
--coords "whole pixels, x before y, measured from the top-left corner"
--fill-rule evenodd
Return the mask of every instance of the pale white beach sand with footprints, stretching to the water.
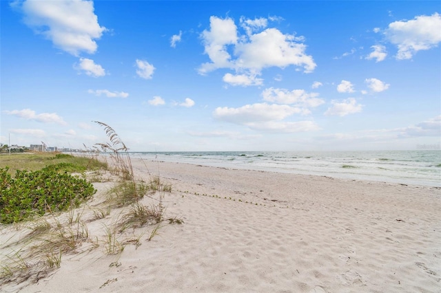
M 184 224 L 164 222 L 152 241 L 152 226 L 138 228 L 141 246 L 121 254 L 85 243 L 37 283 L 0 291 L 441 292 L 440 188 L 146 164 L 172 184 L 165 217 Z M 90 237 L 118 215 L 90 221 Z M 19 232 L 0 232 L 1 254 Z

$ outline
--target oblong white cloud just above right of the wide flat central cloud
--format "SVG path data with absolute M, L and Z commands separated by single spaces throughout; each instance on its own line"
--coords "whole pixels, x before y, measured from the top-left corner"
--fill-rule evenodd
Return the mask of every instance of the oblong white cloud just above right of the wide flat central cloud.
M 262 92 L 263 100 L 278 104 L 294 104 L 298 107 L 318 107 L 325 101 L 317 98 L 317 93 L 307 93 L 303 89 L 275 89 L 270 87 Z

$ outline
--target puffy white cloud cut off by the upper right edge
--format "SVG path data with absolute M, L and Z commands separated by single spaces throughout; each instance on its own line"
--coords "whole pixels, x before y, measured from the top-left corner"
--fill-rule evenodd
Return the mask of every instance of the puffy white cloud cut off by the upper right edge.
M 397 59 L 410 59 L 416 52 L 437 47 L 441 42 L 441 15 L 435 12 L 410 21 L 394 21 L 384 34 L 397 45 Z

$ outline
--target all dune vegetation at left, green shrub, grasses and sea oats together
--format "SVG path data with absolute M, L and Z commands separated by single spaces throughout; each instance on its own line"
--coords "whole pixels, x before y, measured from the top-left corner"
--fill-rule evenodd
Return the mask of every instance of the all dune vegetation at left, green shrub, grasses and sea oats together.
M 65 254 L 99 247 L 105 254 L 119 254 L 129 244 L 140 246 L 143 235 L 152 240 L 164 222 L 183 223 L 164 217 L 163 197 L 172 186 L 148 171 L 143 175 L 147 181 L 136 178 L 119 135 L 107 124 L 96 123 L 110 142 L 96 144 L 89 155 L 1 155 L 0 223 L 19 232 L 0 243 L 0 290 L 2 284 L 48 276 L 60 268 Z M 111 162 L 97 160 L 98 151 Z M 102 174 L 116 180 L 115 185 L 103 201 L 90 206 L 96 193 L 90 181 L 99 182 Z M 153 204 L 143 204 L 145 197 Z M 90 221 L 101 221 L 97 235 L 88 229 Z M 136 230 L 143 226 L 149 231 Z

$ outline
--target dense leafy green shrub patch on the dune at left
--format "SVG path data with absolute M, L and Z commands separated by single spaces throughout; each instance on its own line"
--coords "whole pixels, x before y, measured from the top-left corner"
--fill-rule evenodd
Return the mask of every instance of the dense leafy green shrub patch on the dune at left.
M 0 168 L 0 223 L 23 221 L 32 215 L 77 207 L 96 193 L 93 185 L 56 167 L 39 171 L 17 170 L 12 178 L 8 167 Z

